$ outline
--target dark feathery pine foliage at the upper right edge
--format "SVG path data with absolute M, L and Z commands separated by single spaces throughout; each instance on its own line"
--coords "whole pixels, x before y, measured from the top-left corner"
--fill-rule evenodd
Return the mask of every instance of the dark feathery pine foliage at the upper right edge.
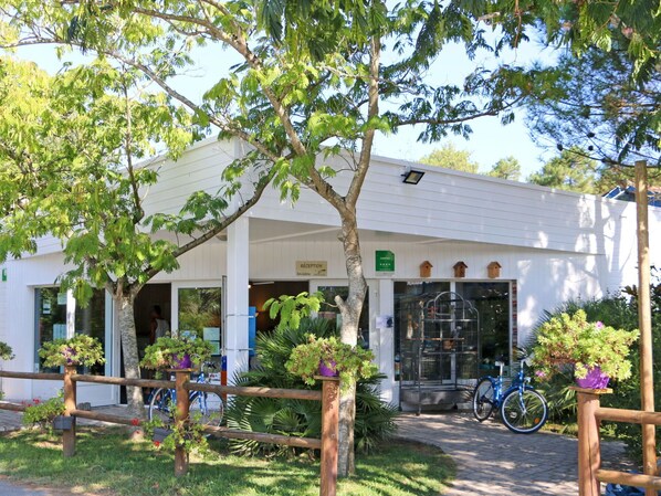
M 632 80 L 627 53 L 589 48 L 569 53 L 547 70 L 552 88 L 527 105 L 537 141 L 580 146 L 607 165 L 648 160 L 661 163 L 661 74 Z

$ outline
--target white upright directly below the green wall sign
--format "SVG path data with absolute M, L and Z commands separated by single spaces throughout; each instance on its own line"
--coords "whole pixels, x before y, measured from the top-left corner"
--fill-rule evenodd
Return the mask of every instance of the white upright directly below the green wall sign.
M 392 279 L 379 279 L 379 315 L 395 318 L 395 283 Z M 387 376 L 381 381 L 381 399 L 399 404 L 399 383 L 395 381 L 395 328 L 380 327 L 379 370 Z

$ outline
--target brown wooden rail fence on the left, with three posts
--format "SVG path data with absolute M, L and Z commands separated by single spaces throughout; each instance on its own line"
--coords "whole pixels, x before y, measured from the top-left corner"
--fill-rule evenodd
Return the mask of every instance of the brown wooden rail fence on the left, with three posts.
M 204 426 L 204 431 L 219 436 L 234 440 L 254 440 L 263 443 L 283 444 L 287 446 L 321 450 L 321 496 L 335 496 L 337 486 L 337 450 L 339 421 L 339 379 L 319 377 L 322 391 L 274 388 L 243 388 L 234 386 L 217 386 L 190 382 L 190 370 L 176 370 L 175 381 L 126 379 L 119 377 L 85 376 L 76 373 L 75 367 L 65 367 L 64 373 L 11 372 L 0 370 L 0 377 L 12 379 L 59 380 L 64 387 L 64 416 L 73 416 L 73 426 L 62 431 L 62 452 L 65 457 L 75 454 L 76 428 L 75 418 L 97 420 L 117 424 L 132 425 L 133 420 L 122 415 L 78 410 L 76 408 L 76 383 L 92 382 L 98 384 L 136 386 L 140 388 L 168 388 L 177 391 L 177 421 L 189 421 L 189 391 L 214 392 L 219 395 L 244 395 L 260 398 L 282 398 L 291 400 L 309 400 L 322 402 L 322 436 L 293 437 L 261 432 L 245 432 L 222 426 Z M 0 409 L 24 411 L 24 404 L 0 403 Z M 182 446 L 175 450 L 175 475 L 181 476 L 188 472 L 188 455 Z

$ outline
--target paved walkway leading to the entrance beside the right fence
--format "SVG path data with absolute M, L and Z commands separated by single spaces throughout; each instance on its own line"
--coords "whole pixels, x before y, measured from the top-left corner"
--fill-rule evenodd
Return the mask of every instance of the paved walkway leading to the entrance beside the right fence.
M 447 496 L 574 496 L 577 441 L 538 432 L 514 434 L 496 420 L 478 422 L 471 414 L 405 414 L 399 436 L 439 446 L 457 463 Z M 604 442 L 604 465 L 625 469 L 623 444 Z

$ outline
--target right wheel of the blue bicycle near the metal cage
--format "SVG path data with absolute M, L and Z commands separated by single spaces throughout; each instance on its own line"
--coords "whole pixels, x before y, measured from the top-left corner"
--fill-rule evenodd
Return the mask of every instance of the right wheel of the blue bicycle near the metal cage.
M 510 431 L 532 434 L 546 422 L 548 407 L 544 397 L 534 389 L 514 389 L 503 398 L 501 418 Z

